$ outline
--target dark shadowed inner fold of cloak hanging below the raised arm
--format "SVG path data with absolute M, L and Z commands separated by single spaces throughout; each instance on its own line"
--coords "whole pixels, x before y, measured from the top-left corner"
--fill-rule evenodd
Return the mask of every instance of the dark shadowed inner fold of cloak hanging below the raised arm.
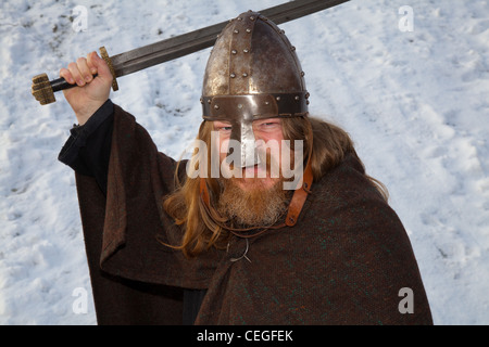
M 111 275 L 100 268 L 105 196 L 91 177 L 76 175 L 97 323 L 181 324 L 183 290 Z

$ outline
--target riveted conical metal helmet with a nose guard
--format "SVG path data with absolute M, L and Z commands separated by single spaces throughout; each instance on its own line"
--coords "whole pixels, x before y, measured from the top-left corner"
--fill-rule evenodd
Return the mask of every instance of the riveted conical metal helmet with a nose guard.
M 258 164 L 252 121 L 308 115 L 304 73 L 296 48 L 256 12 L 231 20 L 214 44 L 202 88 L 203 119 L 226 120 L 240 143 L 241 167 Z

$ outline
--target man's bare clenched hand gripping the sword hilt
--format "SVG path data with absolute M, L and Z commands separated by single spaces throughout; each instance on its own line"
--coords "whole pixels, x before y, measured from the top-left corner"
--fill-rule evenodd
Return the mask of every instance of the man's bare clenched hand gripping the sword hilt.
M 93 77 L 96 74 L 97 77 Z M 70 63 L 67 68 L 62 68 L 60 76 L 68 83 L 78 86 L 66 89 L 63 93 L 75 112 L 78 124 L 84 125 L 109 99 L 113 79 L 111 70 L 97 52 L 91 52 L 87 57 L 79 57 Z

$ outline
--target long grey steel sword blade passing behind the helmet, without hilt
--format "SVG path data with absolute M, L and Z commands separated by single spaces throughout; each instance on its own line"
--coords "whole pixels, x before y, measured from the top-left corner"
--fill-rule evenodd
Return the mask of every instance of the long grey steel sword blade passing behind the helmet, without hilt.
M 296 0 L 263 11 L 275 24 L 283 24 L 323 11 L 349 0 Z M 228 22 L 214 24 L 155 43 L 111 56 L 115 77 L 129 75 L 200 50 L 212 47 Z

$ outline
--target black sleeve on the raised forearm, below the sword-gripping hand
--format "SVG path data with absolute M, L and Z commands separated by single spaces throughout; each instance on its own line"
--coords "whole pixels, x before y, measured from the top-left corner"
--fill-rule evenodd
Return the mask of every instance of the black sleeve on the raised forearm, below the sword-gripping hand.
M 108 100 L 83 126 L 73 127 L 58 159 L 76 172 L 95 177 L 106 193 L 114 104 Z

